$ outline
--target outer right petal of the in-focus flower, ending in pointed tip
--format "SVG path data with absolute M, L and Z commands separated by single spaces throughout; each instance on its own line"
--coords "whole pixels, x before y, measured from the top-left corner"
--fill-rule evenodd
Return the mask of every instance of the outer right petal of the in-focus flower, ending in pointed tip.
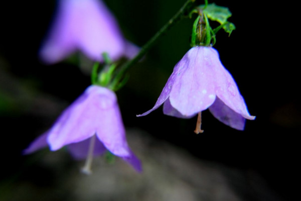
M 220 62 L 218 52 L 214 48 L 207 49 L 212 55 L 212 70 L 215 77 L 214 86 L 216 95 L 234 112 L 242 115 L 246 119 L 254 120 L 255 117 L 250 116 L 234 79 Z

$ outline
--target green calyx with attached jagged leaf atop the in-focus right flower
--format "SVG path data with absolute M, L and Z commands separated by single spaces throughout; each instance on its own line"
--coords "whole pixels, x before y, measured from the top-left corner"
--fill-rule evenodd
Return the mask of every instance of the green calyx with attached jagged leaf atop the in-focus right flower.
M 213 4 L 208 4 L 205 1 L 205 5 L 198 6 L 190 13 L 197 13 L 198 17 L 193 24 L 191 46 L 213 46 L 216 42 L 216 33 L 220 29 L 224 29 L 226 33 L 230 34 L 235 30 L 235 25 L 228 22 L 228 18 L 232 16 L 231 12 L 226 7 L 220 7 Z M 220 26 L 212 29 L 209 20 L 216 21 Z

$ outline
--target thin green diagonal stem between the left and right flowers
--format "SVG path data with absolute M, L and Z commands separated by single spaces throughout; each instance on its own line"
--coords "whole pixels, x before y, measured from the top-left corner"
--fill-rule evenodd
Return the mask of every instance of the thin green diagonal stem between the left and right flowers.
M 124 65 L 120 67 L 119 72 L 117 73 L 112 85 L 115 86 L 120 80 L 123 78 L 123 75 L 130 69 L 131 66 L 133 66 L 135 63 L 137 63 L 144 55 L 145 53 L 155 44 L 155 42 L 162 36 L 166 31 L 168 31 L 173 25 L 178 22 L 181 17 L 183 17 L 185 11 L 191 6 L 192 3 L 194 3 L 196 0 L 188 0 L 186 3 L 182 6 L 182 8 L 178 11 L 178 13 L 168 21 L 167 24 L 165 24 L 159 32 L 153 36 L 140 50 L 140 52 L 131 60 L 126 62 Z

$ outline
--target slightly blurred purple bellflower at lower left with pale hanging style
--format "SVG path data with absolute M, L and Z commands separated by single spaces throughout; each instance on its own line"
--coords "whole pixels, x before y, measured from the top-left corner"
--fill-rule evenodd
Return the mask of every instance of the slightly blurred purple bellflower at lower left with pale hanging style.
M 56 151 L 67 145 L 75 159 L 103 154 L 106 150 L 121 157 L 138 172 L 141 164 L 130 150 L 116 95 L 108 88 L 91 85 L 58 118 L 52 128 L 25 151 L 32 153 L 50 146 Z M 89 173 L 90 163 L 83 169 Z

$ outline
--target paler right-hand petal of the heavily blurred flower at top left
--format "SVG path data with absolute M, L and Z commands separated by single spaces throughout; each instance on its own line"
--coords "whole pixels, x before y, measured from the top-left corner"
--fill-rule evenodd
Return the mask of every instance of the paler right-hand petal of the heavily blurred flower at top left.
M 81 23 L 81 27 L 77 29 L 79 48 L 93 60 L 102 61 L 103 52 L 107 52 L 113 60 L 118 59 L 123 54 L 126 44 L 113 15 L 101 1 L 79 2 L 81 3 L 77 3 L 76 9 L 80 13 L 73 19 L 77 20 L 76 23 Z

